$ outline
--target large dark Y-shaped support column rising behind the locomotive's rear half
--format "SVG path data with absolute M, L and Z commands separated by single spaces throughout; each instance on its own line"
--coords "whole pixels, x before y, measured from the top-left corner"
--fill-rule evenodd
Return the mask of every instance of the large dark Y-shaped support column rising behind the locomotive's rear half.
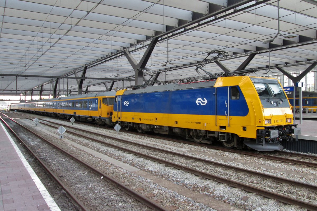
M 135 73 L 135 85 L 142 85 L 143 84 L 143 71 L 139 71 L 139 69 L 145 68 L 147 62 L 149 61 L 149 58 L 152 54 L 152 51 L 154 50 L 154 47 L 159 40 L 158 37 L 153 38 L 150 45 L 147 47 L 146 51 L 144 52 L 141 60 L 139 63 L 135 61 L 135 59 L 132 57 L 132 55 L 129 53 L 129 51 L 124 51 L 124 55 L 128 59 L 129 63 L 131 64 L 132 68 L 134 69 Z

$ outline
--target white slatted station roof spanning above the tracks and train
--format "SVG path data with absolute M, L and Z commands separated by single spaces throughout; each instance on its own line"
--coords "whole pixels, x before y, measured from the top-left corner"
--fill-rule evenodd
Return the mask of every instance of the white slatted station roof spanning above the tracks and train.
M 299 74 L 316 65 L 316 9 L 315 0 L 4 0 L 0 95 L 41 85 L 49 94 L 57 78 L 60 94 L 74 94 L 84 69 L 89 92 L 134 85 L 124 51 L 139 63 L 155 38 L 144 81 L 158 72 L 158 81 L 203 70 Z

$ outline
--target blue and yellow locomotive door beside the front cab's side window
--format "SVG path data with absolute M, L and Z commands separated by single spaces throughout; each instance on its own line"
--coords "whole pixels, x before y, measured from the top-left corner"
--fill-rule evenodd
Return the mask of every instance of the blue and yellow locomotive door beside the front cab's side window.
M 216 126 L 229 126 L 229 87 L 216 87 Z

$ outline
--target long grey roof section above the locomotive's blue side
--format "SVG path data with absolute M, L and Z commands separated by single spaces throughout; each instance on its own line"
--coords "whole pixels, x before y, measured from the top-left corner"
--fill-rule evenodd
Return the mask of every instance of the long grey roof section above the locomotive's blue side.
M 163 91 L 174 91 L 182 89 L 195 89 L 204 87 L 213 87 L 216 83 L 215 81 L 204 81 L 204 82 L 194 82 L 194 83 L 184 83 L 184 84 L 166 84 L 161 86 L 146 87 L 144 89 L 135 89 L 125 91 L 123 94 L 134 94 L 134 93 L 149 93 L 149 92 L 163 92 Z

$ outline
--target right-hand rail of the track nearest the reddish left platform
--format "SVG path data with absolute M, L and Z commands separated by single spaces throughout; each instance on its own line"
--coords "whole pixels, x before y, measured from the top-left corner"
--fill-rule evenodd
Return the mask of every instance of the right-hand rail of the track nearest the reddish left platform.
M 0 112 L 1 113 L 1 112 Z M 3 113 L 2 113 L 3 114 Z M 3 114 L 5 115 L 5 114 Z M 8 117 L 7 115 L 5 115 L 6 117 Z M 10 117 L 8 117 L 10 118 Z M 62 148 L 58 147 L 57 145 L 49 142 L 47 139 L 43 138 L 42 136 L 40 136 L 39 134 L 35 133 L 34 131 L 28 129 L 27 127 L 25 127 L 24 125 L 16 122 L 15 120 L 13 120 L 12 118 L 10 118 L 10 120 L 12 120 L 13 122 L 15 122 L 16 124 L 18 124 L 19 126 L 21 126 L 22 128 L 28 130 L 29 132 L 31 132 L 32 134 L 34 134 L 35 136 L 39 137 L 40 139 L 42 139 L 45 142 L 48 142 L 50 145 L 54 146 L 55 148 L 57 148 L 58 150 L 60 150 L 61 152 L 67 154 L 68 156 L 70 156 L 72 159 L 76 160 L 77 162 L 81 163 L 83 166 L 91 169 L 93 172 L 95 172 L 97 175 L 99 175 L 100 177 L 106 179 L 108 182 L 110 182 L 111 184 L 113 184 L 115 187 L 119 188 L 120 190 L 122 190 L 123 192 L 125 192 L 126 194 L 128 194 L 129 196 L 132 196 L 133 198 L 135 198 L 136 200 L 138 200 L 139 202 L 144 203 L 146 206 L 148 206 L 149 208 L 152 208 L 154 210 L 158 210 L 158 211 L 169 211 L 168 209 L 165 209 L 164 207 L 160 206 L 159 204 L 153 202 L 152 200 L 146 198 L 145 196 L 142 196 L 141 194 L 139 194 L 138 192 L 134 191 L 133 189 L 127 187 L 126 185 L 120 183 L 119 181 L 107 176 L 106 174 L 104 174 L 103 172 L 100 172 L 98 169 L 90 166 L 88 163 L 86 163 L 85 161 L 82 161 L 78 158 L 76 158 L 75 156 L 73 156 L 72 154 L 66 152 L 65 150 L 63 150 Z M 90 210 L 90 209 L 87 209 Z

